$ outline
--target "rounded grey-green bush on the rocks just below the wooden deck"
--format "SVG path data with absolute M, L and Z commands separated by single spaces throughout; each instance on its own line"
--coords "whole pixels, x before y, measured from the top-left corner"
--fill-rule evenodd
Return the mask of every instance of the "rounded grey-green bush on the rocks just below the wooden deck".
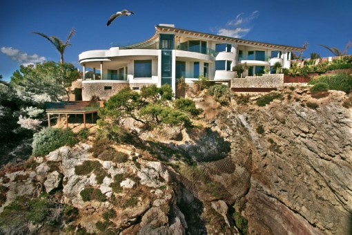
M 32 142 L 32 154 L 44 156 L 66 144 L 73 146 L 79 140 L 70 129 L 45 128 L 35 133 Z

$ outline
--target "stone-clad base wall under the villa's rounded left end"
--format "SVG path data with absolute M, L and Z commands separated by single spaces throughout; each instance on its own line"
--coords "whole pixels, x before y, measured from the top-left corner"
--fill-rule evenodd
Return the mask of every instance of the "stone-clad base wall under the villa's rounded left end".
M 130 87 L 128 82 L 111 82 L 111 81 L 84 81 L 82 84 L 82 100 L 88 101 L 93 95 L 97 95 L 100 100 L 108 100 L 123 88 Z

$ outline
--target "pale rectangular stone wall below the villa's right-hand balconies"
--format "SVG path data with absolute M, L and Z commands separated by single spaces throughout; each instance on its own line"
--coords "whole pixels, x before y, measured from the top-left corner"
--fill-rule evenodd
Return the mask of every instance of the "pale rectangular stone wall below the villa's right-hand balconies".
M 231 79 L 231 87 L 233 88 L 277 88 L 280 86 L 284 86 L 283 74 L 265 74 Z

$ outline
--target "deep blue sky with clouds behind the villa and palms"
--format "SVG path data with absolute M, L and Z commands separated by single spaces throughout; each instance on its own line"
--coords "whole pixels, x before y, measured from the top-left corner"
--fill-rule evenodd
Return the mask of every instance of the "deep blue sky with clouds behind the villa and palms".
M 110 15 L 124 9 L 135 15 L 106 26 Z M 81 69 L 79 53 L 143 41 L 159 23 L 273 44 L 308 41 L 305 57 L 312 52 L 328 57 L 331 53 L 319 44 L 343 50 L 352 41 L 352 0 L 0 0 L 0 75 L 8 80 L 20 64 L 59 62 L 55 47 L 31 32 L 65 40 L 75 28 L 64 59 Z

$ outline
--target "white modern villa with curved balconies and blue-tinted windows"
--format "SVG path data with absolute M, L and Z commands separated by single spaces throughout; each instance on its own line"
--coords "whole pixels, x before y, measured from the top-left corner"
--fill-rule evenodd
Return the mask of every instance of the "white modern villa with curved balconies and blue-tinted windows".
M 155 26 L 155 35 L 146 41 L 108 50 L 88 50 L 79 55 L 83 66 L 82 97 L 107 99 L 119 89 L 170 84 L 177 79 L 192 82 L 203 75 L 218 82 L 235 77 L 233 66 L 246 63 L 245 75 L 260 75 L 275 62 L 290 68 L 291 52 L 304 48 L 248 41 L 204 32 Z M 86 71 L 90 68 L 90 76 Z M 99 71 L 100 73 L 97 73 Z

